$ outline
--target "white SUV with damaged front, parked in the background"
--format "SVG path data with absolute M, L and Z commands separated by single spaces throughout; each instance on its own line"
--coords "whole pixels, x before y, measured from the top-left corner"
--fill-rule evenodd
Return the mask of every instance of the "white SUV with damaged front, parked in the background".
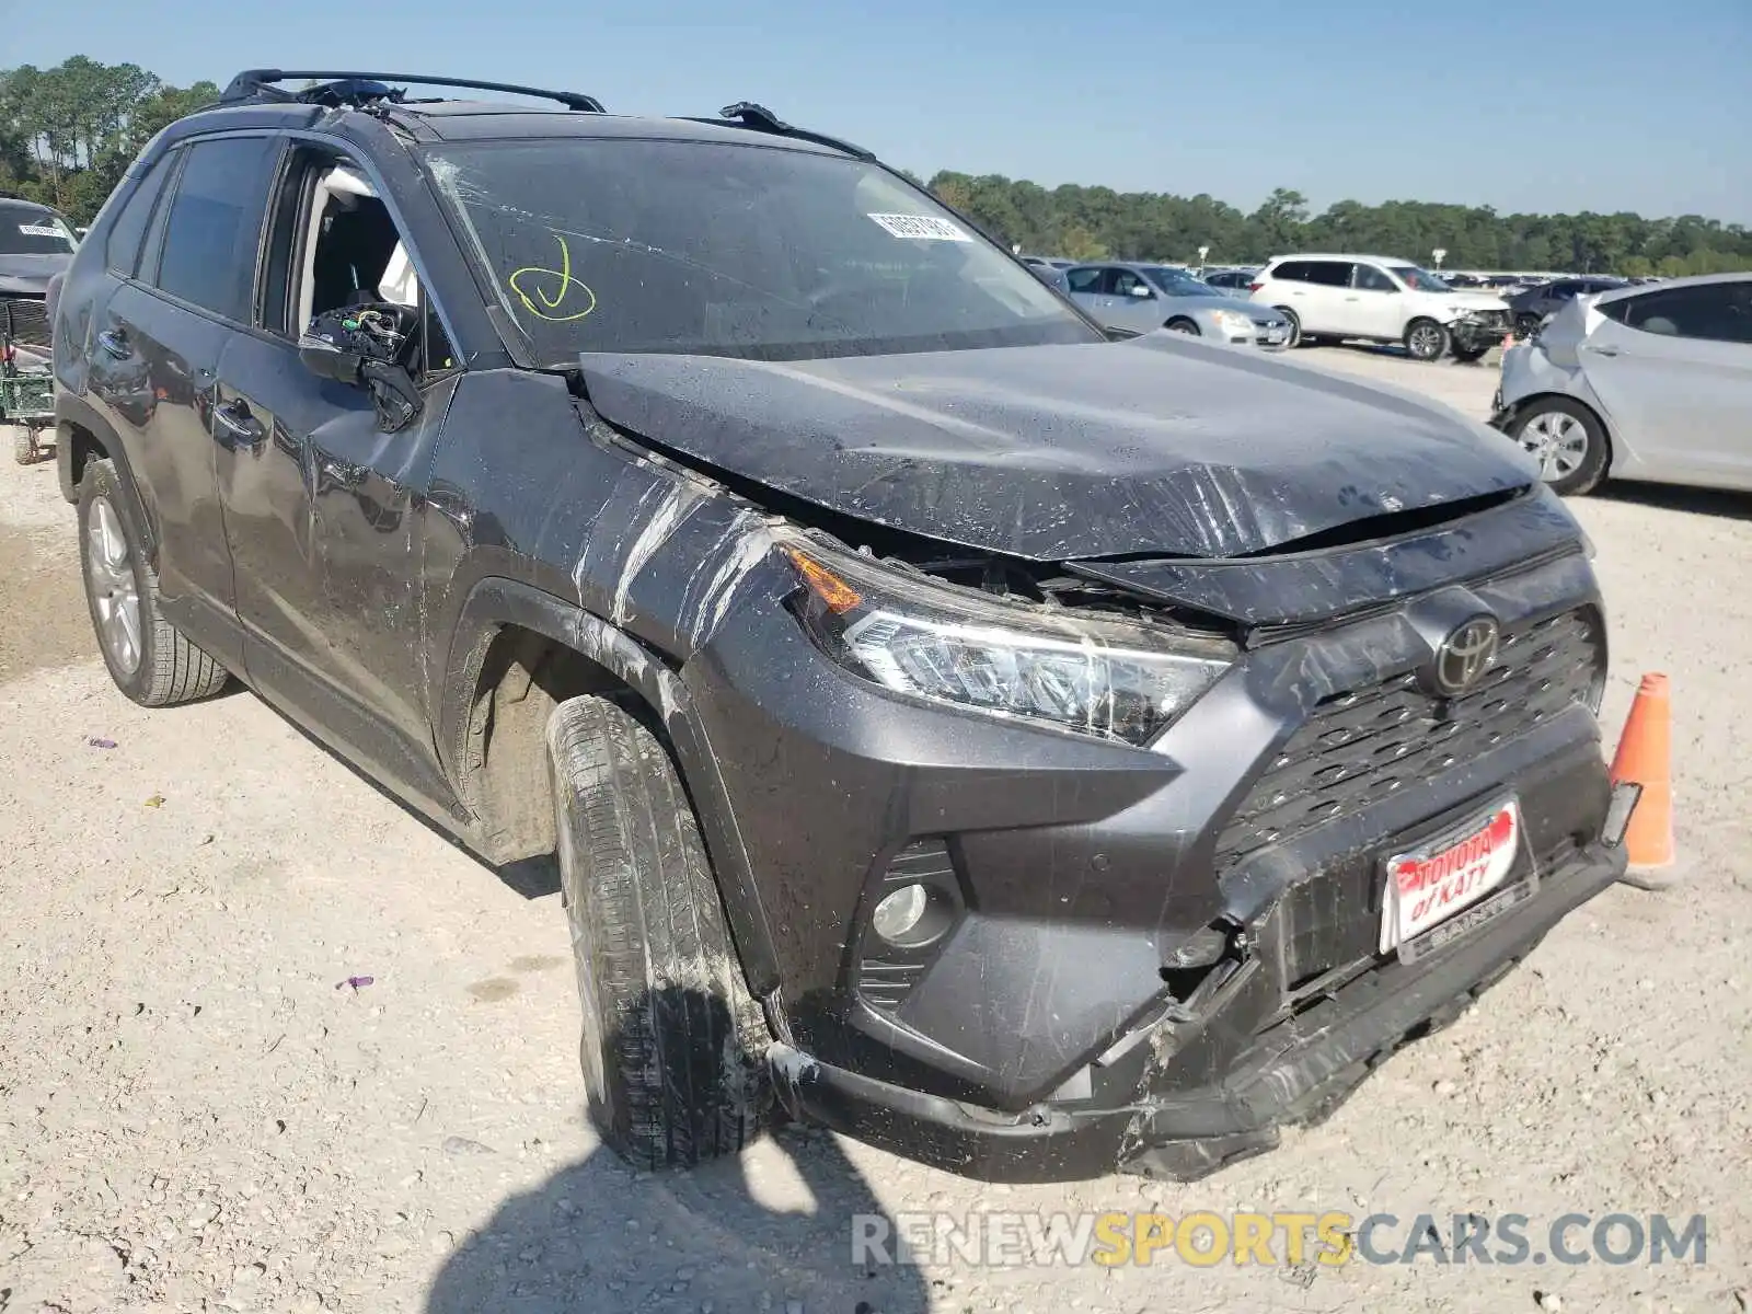
M 1251 284 L 1253 300 L 1289 317 L 1293 342 L 1403 342 L 1419 361 L 1452 350 L 1477 361 L 1508 333 L 1508 305 L 1463 293 L 1391 256 L 1275 256 Z

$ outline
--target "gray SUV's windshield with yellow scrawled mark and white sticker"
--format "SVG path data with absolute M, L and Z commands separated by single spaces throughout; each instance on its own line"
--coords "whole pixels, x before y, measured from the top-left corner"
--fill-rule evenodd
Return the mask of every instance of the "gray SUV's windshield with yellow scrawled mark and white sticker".
M 625 138 L 442 149 L 427 165 L 543 364 L 1102 340 L 878 165 Z

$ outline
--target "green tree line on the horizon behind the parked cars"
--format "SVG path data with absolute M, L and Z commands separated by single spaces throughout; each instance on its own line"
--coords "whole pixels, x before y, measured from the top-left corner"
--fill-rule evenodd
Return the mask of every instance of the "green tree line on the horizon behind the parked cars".
M 128 161 L 173 119 L 219 96 L 214 82 L 172 86 L 133 63 L 79 54 L 54 68 L 0 70 L 0 194 L 46 201 L 88 224 Z M 1253 214 L 1205 193 L 1046 189 L 997 173 L 941 172 L 934 194 L 1006 245 L 1070 259 L 1260 263 L 1291 251 L 1379 251 L 1445 268 L 1577 273 L 1752 270 L 1752 231 L 1685 214 L 1498 214 L 1489 207 L 1339 201 L 1312 214 L 1284 187 Z

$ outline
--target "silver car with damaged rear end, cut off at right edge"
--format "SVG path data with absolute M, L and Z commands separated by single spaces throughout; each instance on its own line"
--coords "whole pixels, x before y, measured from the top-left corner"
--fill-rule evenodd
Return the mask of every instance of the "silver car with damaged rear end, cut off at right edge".
M 1580 296 L 1503 354 L 1491 424 L 1558 492 L 1752 491 L 1752 273 Z

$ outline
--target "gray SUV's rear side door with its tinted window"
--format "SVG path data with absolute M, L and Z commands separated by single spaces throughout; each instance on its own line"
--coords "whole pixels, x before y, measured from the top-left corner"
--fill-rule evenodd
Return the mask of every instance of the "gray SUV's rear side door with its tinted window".
M 152 520 L 159 606 L 231 669 L 240 641 L 214 480 L 214 382 L 226 342 L 254 317 L 279 154 L 279 138 L 240 135 L 200 138 L 166 159 L 135 277 L 91 326 L 89 387 L 119 420 Z

